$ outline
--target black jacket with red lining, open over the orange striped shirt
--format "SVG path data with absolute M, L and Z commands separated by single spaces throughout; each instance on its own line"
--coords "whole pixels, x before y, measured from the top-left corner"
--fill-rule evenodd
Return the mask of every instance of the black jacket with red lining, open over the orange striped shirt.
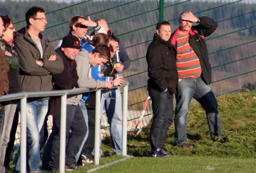
M 211 64 L 204 38 L 211 35 L 217 29 L 217 26 L 218 24 L 213 19 L 202 16 L 200 17 L 199 25 L 192 26 L 191 30 L 189 31 L 188 42 L 193 48 L 194 52 L 198 55 L 202 69 L 202 77 L 206 83 L 211 83 Z M 178 31 L 179 28 L 172 33 L 170 42 L 170 45 L 174 48 L 176 54 Z

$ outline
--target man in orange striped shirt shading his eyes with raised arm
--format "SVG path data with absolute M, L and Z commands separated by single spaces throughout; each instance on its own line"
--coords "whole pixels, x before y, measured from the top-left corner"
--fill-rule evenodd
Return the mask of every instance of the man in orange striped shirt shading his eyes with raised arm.
M 192 26 L 197 22 L 197 26 Z M 211 64 L 205 37 L 217 29 L 217 23 L 206 16 L 196 17 L 183 12 L 179 18 L 180 27 L 171 36 L 175 49 L 178 86 L 175 110 L 175 140 L 180 147 L 192 148 L 187 143 L 187 114 L 192 97 L 204 108 L 210 128 L 210 135 L 221 137 L 220 114 L 217 100 L 211 90 Z

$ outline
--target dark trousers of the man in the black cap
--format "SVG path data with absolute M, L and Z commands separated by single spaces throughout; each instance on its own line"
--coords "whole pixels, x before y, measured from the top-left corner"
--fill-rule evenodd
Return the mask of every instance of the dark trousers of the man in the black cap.
M 59 167 L 59 150 L 60 150 L 60 123 L 61 111 L 56 117 L 53 117 L 53 128 L 55 136 L 52 141 L 51 158 L 49 166 L 52 168 Z M 72 133 L 69 134 L 69 130 Z M 66 152 L 65 164 L 71 165 L 76 162 L 75 155 L 78 153 L 79 148 L 84 140 L 86 134 L 86 123 L 84 121 L 83 112 L 80 106 L 67 105 L 67 118 L 66 118 Z

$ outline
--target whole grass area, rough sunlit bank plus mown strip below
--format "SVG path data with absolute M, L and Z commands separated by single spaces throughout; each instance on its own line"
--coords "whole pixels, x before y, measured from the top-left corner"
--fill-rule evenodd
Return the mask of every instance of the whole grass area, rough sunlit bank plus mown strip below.
M 188 113 L 188 143 L 193 149 L 175 146 L 174 125 L 168 132 L 166 148 L 174 153 L 169 158 L 151 158 L 150 125 L 136 138 L 128 136 L 127 154 L 135 158 L 116 163 L 95 173 L 256 173 L 256 92 L 217 98 L 224 139 L 212 141 L 204 110 L 192 103 Z M 110 138 L 103 141 L 100 164 L 121 159 L 113 156 Z M 95 167 L 88 164 L 73 173 Z

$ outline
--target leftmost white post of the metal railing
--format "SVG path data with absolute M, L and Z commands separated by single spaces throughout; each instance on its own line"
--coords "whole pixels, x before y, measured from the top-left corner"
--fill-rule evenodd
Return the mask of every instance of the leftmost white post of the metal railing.
M 20 99 L 20 173 L 26 173 L 26 108 L 27 98 Z

